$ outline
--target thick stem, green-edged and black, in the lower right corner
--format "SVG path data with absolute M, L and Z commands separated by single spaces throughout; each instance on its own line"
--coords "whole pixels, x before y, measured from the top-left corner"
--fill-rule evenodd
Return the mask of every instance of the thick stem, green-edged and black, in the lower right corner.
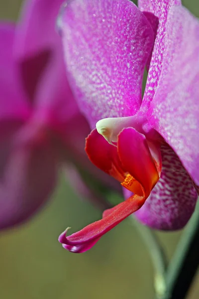
M 164 299 L 185 299 L 199 265 L 199 204 L 169 264 Z

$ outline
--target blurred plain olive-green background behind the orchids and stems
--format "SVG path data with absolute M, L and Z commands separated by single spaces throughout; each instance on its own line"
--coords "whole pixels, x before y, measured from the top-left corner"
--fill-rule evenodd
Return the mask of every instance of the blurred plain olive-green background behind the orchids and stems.
M 0 18 L 16 19 L 21 0 L 0 0 Z M 199 17 L 199 0 L 184 0 Z M 126 219 L 84 254 L 64 250 L 57 238 L 100 219 L 64 178 L 51 201 L 26 225 L 1 232 L 0 299 L 153 299 L 153 267 L 139 234 Z M 180 233 L 157 232 L 169 257 Z M 199 275 L 188 295 L 199 298 Z

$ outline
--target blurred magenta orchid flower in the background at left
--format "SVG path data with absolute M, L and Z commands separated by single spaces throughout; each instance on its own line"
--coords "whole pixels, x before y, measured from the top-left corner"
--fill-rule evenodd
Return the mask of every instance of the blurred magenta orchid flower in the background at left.
M 60 164 L 76 189 L 100 201 L 76 169 L 96 167 L 84 151 L 90 128 L 65 74 L 55 26 L 61 3 L 26 1 L 17 24 L 0 24 L 0 228 L 48 200 Z

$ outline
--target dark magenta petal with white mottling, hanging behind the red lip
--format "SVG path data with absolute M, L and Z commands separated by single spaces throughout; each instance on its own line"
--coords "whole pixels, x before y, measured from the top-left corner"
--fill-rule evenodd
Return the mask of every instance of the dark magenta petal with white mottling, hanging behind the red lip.
M 192 216 L 198 198 L 192 179 L 175 152 L 162 145 L 162 172 L 150 196 L 135 216 L 151 228 L 183 228 Z M 125 197 L 131 194 L 123 190 Z

